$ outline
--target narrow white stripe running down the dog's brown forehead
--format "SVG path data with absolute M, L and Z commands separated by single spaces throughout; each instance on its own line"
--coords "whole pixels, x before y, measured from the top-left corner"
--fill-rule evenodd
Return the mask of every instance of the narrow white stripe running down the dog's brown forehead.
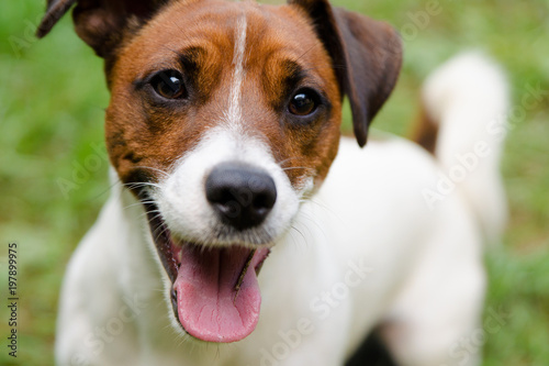
M 244 71 L 244 55 L 246 52 L 246 32 L 247 32 L 246 14 L 238 18 L 235 30 L 235 49 L 233 56 L 233 84 L 231 86 L 231 95 L 228 101 L 228 111 L 225 113 L 227 122 L 233 126 L 238 126 L 242 120 L 242 86 L 245 77 Z

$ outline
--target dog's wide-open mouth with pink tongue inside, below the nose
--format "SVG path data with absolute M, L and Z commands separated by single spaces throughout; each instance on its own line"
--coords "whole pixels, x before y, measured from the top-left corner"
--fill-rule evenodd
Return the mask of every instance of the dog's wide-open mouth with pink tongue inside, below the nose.
M 269 248 L 204 247 L 175 241 L 158 209 L 143 200 L 160 260 L 171 280 L 171 304 L 184 331 L 206 342 L 248 336 L 259 319 L 257 275 Z

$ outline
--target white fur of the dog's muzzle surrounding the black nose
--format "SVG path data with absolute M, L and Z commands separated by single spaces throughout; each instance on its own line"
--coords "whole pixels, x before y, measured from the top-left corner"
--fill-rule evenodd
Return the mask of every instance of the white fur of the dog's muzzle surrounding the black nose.
M 205 198 L 205 180 L 215 166 L 231 162 L 247 163 L 267 171 L 274 180 L 278 199 L 260 226 L 220 237 L 217 233 L 225 225 Z M 280 236 L 298 213 L 301 196 L 292 189 L 268 145 L 224 126 L 209 131 L 197 148 L 180 158 L 172 174 L 161 180 L 153 193 L 172 233 L 190 242 L 216 245 L 265 244 Z

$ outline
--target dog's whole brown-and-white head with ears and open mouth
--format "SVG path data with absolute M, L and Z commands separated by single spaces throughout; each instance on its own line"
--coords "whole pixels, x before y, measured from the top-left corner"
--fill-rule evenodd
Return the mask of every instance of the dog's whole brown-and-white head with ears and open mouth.
M 176 319 L 203 341 L 244 339 L 256 273 L 336 156 L 344 96 L 362 146 L 399 36 L 326 0 L 49 0 L 38 36 L 75 3 L 105 59 L 110 159 L 148 213 Z

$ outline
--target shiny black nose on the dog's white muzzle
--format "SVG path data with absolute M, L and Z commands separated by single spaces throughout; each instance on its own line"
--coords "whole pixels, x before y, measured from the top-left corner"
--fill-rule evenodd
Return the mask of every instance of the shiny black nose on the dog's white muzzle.
M 259 225 L 277 201 L 272 178 L 242 163 L 216 166 L 206 179 L 205 191 L 221 220 L 238 230 Z

